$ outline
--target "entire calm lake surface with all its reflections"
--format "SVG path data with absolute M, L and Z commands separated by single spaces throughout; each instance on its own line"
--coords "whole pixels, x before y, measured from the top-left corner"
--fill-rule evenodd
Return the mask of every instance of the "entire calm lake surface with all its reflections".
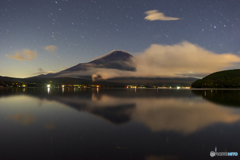
M 0 89 L 0 160 L 240 153 L 239 90 Z

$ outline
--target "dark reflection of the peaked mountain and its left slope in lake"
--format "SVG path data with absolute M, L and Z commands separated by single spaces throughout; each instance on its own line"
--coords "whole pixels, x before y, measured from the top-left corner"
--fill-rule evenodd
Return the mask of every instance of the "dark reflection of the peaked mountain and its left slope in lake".
M 13 89 L 10 92 L 7 90 L 0 90 L 5 92 L 0 92 L 1 95 L 4 96 L 9 95 L 22 95 L 27 94 L 29 96 L 34 96 L 39 99 L 46 99 L 48 101 L 57 101 L 62 104 L 66 104 L 67 106 L 74 108 L 78 111 L 84 111 L 92 113 L 98 117 L 102 117 L 114 124 L 122 124 L 131 120 L 131 114 L 136 107 L 135 103 L 114 103 L 106 102 L 104 104 L 100 103 L 102 99 L 104 99 L 104 95 L 101 94 L 93 94 L 91 90 L 87 90 L 86 92 L 80 92 L 78 94 L 74 94 L 74 92 L 68 92 L 67 90 L 62 94 L 62 90 L 52 90 L 54 94 L 48 95 L 44 90 L 39 90 L 40 92 L 34 92 L 34 89 L 26 89 L 23 93 L 22 89 Z M 71 90 L 72 91 L 72 90 Z

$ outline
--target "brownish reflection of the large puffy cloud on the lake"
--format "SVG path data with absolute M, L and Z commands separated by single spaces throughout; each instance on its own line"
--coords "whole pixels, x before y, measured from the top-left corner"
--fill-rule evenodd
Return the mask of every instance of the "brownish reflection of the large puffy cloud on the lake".
M 155 132 L 175 131 L 183 134 L 218 123 L 234 123 L 240 120 L 240 114 L 233 110 L 219 108 L 197 98 L 192 100 L 195 102 L 189 102 L 188 99 L 155 99 L 150 100 L 149 104 L 141 99 L 137 102 L 132 118 Z

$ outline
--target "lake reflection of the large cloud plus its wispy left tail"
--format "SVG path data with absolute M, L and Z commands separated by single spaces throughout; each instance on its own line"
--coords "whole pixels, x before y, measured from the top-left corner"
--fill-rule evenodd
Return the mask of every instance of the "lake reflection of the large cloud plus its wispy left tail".
M 66 99 L 65 99 L 66 100 Z M 64 101 L 65 101 L 64 100 Z M 64 102 L 62 101 L 62 102 Z M 74 102 L 79 105 L 83 102 Z M 67 102 L 64 102 L 67 104 Z M 240 120 L 239 110 L 221 108 L 215 104 L 202 101 L 199 98 L 191 100 L 185 98 L 149 98 L 135 97 L 123 98 L 102 94 L 92 96 L 92 101 L 85 101 L 86 108 L 116 107 L 116 104 L 135 106 L 131 111 L 123 108 L 122 117 L 129 116 L 131 120 L 142 122 L 154 132 L 175 131 L 183 134 L 190 134 L 209 125 L 217 123 L 234 123 Z M 71 104 L 68 104 L 71 106 Z M 117 107 L 116 107 L 117 108 Z M 104 111 L 104 109 L 102 109 Z M 115 112 L 114 112 L 115 113 Z M 213 114 L 214 113 L 214 114 Z

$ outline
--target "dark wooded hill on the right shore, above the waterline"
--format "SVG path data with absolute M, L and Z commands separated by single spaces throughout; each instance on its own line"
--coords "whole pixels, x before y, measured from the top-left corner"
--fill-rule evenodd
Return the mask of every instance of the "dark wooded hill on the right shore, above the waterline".
M 212 73 L 193 82 L 192 88 L 240 88 L 240 69 Z

